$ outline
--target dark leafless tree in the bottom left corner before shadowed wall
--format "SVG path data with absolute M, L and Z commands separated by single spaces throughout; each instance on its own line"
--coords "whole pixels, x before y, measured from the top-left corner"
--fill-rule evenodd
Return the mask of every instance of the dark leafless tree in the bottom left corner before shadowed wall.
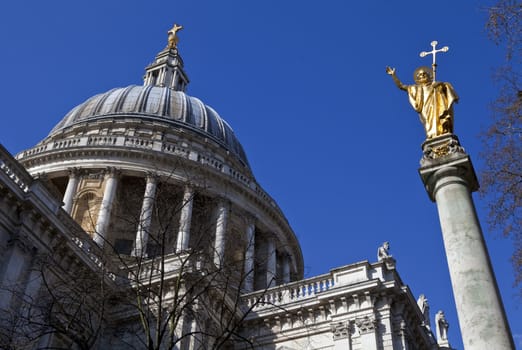
M 110 300 L 103 269 L 95 272 L 55 251 L 34 258 L 24 283 L 0 289 L 12 296 L 10 307 L 0 310 L 2 349 L 88 350 L 102 332 Z

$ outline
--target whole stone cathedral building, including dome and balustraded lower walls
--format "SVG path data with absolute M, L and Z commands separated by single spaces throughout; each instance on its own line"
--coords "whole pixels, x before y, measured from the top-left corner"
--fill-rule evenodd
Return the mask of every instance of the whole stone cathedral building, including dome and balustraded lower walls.
M 0 346 L 438 349 L 389 261 L 303 279 L 284 214 L 186 84 L 166 48 L 144 86 L 0 149 Z

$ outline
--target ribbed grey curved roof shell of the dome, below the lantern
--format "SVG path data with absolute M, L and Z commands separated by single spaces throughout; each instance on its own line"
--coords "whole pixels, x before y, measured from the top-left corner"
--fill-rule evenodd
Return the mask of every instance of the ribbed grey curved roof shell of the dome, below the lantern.
M 250 168 L 234 131 L 214 109 L 166 86 L 131 85 L 95 95 L 67 113 L 49 136 L 78 123 L 118 117 L 167 122 L 195 132 L 214 140 Z

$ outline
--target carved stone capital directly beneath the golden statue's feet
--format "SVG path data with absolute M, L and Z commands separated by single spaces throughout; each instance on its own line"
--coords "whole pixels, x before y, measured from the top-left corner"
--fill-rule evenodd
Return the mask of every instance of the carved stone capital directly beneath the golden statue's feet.
M 460 145 L 456 135 L 448 134 L 429 139 L 422 144 L 423 156 L 419 175 L 430 199 L 440 188 L 439 180 L 452 176 L 465 183 L 470 192 L 478 190 L 479 184 L 471 158 Z

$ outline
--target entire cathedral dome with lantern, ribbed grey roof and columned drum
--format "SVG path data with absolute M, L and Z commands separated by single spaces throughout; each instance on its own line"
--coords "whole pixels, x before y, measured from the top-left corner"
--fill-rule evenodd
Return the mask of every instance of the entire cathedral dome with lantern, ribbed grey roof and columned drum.
M 111 252 L 155 257 L 168 242 L 167 255 L 191 250 L 243 265 L 235 271 L 250 274 L 248 291 L 302 278 L 284 213 L 257 183 L 230 125 L 186 94 L 188 82 L 169 46 L 145 68 L 142 86 L 87 99 L 17 159 Z M 263 266 L 243 264 L 246 256 Z

